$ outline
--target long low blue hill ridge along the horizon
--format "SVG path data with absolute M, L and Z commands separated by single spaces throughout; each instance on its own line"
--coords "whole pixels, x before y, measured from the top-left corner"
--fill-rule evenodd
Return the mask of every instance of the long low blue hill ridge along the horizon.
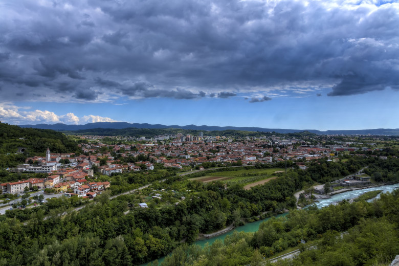
M 315 129 L 284 129 L 284 128 L 262 128 L 262 127 L 237 127 L 237 126 L 197 126 L 197 125 L 161 125 L 161 124 L 147 124 L 147 123 L 127 123 L 127 122 L 97 122 L 88 123 L 85 125 L 66 125 L 66 124 L 37 124 L 37 125 L 19 125 L 20 127 L 32 127 L 32 128 L 42 128 L 42 129 L 53 129 L 57 131 L 76 131 L 76 130 L 86 130 L 94 128 L 111 128 L 111 129 L 124 129 L 124 128 L 182 128 L 191 130 L 202 130 L 202 131 L 223 131 L 223 130 L 240 130 L 240 131 L 259 131 L 259 132 L 278 132 L 282 134 L 295 133 L 302 131 L 309 131 L 318 135 L 385 135 L 385 136 L 399 136 L 399 128 L 396 129 L 361 129 L 361 130 L 327 130 L 320 131 Z

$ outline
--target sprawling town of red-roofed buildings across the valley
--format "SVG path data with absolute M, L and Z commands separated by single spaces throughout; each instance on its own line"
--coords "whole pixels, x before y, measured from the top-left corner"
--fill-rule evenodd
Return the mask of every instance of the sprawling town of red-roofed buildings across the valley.
M 162 135 L 151 139 L 140 137 L 75 136 L 81 139 L 79 153 L 51 153 L 43 157 L 26 159 L 25 164 L 9 169 L 10 172 L 44 173 L 46 178 L 29 178 L 0 184 L 3 193 L 22 193 L 47 188 L 48 192 L 94 198 L 110 185 L 109 181 L 94 182 L 96 176 L 115 175 L 125 172 L 147 172 L 156 168 L 173 168 L 178 172 L 191 172 L 214 167 L 246 166 L 295 162 L 306 169 L 306 162 L 321 158 L 339 162 L 339 153 L 365 157 L 369 151 L 379 150 L 375 142 L 383 142 L 379 136 L 365 138 L 346 137 L 347 141 L 335 140 L 337 136 L 313 136 L 296 138 L 287 136 L 225 137 L 183 134 Z M 342 139 L 342 138 L 338 138 Z M 361 142 L 356 142 L 362 140 Z M 381 139 L 381 140 L 380 140 Z M 107 141 L 103 141 L 107 140 Z M 350 140 L 350 141 L 348 141 Z M 106 144 L 104 142 L 116 142 Z M 323 144 L 320 144 L 323 143 Z M 331 143 L 331 145 L 326 145 Z M 20 148 L 23 150 L 24 148 Z M 356 151 L 361 150 L 362 153 Z M 370 157 L 376 157 L 369 154 Z M 386 156 L 379 156 L 386 160 Z M 86 179 L 91 179 L 87 181 Z

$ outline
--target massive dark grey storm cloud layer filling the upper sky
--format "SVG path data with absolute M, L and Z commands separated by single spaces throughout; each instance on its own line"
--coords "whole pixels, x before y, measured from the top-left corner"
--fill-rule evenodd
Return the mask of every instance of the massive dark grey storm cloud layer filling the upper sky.
M 2 7 L 0 78 L 12 91 L 2 99 L 27 90 L 48 100 L 228 98 L 309 82 L 328 96 L 399 88 L 396 3 L 43 3 Z

